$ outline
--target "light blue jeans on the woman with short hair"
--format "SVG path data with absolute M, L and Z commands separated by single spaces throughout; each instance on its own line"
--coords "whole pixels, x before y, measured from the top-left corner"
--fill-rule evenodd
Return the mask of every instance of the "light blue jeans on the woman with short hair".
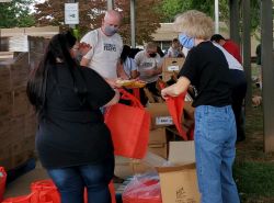
M 194 133 L 201 203 L 239 203 L 232 177 L 237 133 L 231 106 L 197 106 Z

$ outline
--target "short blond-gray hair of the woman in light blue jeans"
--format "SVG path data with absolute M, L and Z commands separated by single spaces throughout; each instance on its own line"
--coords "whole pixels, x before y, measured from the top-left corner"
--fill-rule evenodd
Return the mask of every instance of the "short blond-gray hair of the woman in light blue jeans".
M 175 30 L 190 37 L 209 40 L 214 34 L 212 18 L 196 10 L 190 10 L 179 14 L 174 21 Z

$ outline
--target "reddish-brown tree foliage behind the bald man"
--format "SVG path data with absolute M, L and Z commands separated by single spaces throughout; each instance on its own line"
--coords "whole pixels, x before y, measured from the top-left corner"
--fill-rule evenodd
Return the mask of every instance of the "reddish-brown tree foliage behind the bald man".
M 64 16 L 64 0 L 47 0 L 44 3 L 35 5 L 36 9 L 36 23 L 37 25 L 60 25 L 67 29 L 65 25 Z M 102 18 L 106 11 L 106 0 L 78 0 L 79 2 L 79 21 L 78 30 L 80 35 L 83 35 L 91 29 L 101 26 Z M 151 41 L 151 34 L 160 26 L 162 15 L 155 7 L 159 4 L 161 0 L 145 0 L 136 1 L 136 42 L 142 44 L 144 42 Z M 130 42 L 130 1 L 129 0 L 116 0 L 115 9 L 118 9 L 123 13 L 123 24 L 121 26 L 121 35 L 124 43 Z M 50 14 L 49 14 L 50 13 Z

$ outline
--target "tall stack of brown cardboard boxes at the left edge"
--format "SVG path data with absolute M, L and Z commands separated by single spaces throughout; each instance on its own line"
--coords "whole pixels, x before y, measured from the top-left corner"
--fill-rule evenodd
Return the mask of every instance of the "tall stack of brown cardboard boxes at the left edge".
M 28 54 L 0 61 L 0 166 L 7 170 L 34 157 L 35 113 L 26 97 Z

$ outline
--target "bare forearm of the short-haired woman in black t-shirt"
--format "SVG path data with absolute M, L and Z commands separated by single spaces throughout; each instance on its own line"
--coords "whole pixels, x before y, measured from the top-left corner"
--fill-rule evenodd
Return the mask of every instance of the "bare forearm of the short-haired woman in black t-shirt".
M 168 99 L 168 97 L 178 97 L 187 90 L 190 83 L 191 81 L 186 77 L 180 77 L 176 83 L 162 89 L 161 95 L 163 99 Z

